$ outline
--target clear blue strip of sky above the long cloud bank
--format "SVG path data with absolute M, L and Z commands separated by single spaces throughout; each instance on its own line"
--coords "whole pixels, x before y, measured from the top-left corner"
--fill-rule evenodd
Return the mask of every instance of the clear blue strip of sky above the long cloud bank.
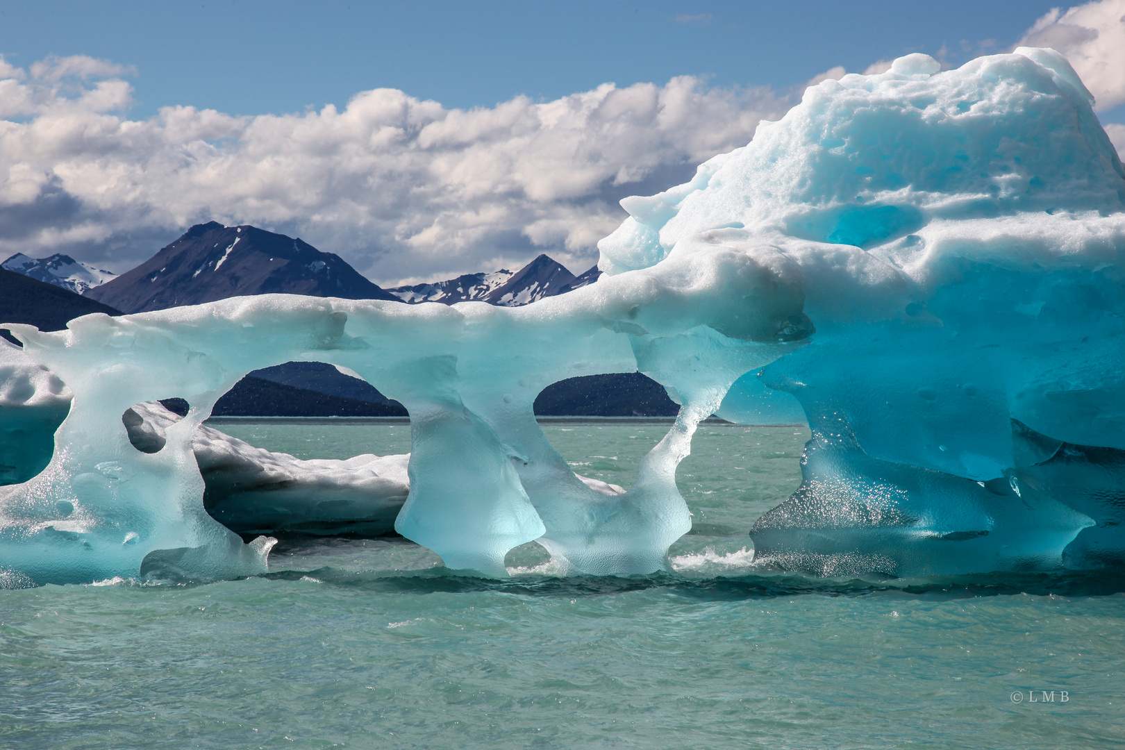
M 132 65 L 134 117 L 343 106 L 388 87 L 446 107 L 708 75 L 784 88 L 910 52 L 1000 52 L 1058 2 L 0 2 L 0 54 Z

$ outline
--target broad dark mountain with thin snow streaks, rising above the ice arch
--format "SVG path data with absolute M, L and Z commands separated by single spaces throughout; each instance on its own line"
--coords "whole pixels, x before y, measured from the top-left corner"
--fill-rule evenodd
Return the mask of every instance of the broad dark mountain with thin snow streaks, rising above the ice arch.
M 86 296 L 126 313 L 143 313 L 276 292 L 399 301 L 339 255 L 282 234 L 217 222 L 197 224 L 141 265 Z

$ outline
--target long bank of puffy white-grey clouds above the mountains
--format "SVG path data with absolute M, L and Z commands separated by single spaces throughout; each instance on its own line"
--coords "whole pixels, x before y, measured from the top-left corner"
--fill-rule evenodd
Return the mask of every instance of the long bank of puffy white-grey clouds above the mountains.
M 469 110 L 376 89 L 342 109 L 129 119 L 128 72 L 0 58 L 0 254 L 124 271 L 216 219 L 300 235 L 381 283 L 539 252 L 577 272 L 624 217 L 619 198 L 686 179 L 791 103 L 681 76 Z

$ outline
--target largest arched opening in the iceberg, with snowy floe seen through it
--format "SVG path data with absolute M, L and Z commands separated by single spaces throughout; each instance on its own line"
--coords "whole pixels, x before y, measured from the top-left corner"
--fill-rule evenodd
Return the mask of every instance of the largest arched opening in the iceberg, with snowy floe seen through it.
M 251 372 L 194 450 L 204 508 L 243 537 L 393 534 L 410 491 L 406 409 L 323 362 Z

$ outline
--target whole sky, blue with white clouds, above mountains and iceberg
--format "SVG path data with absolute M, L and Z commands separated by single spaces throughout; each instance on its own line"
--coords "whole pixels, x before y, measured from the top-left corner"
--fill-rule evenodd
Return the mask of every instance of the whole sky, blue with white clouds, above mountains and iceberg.
M 0 260 L 123 272 L 219 220 L 300 236 L 385 286 L 541 252 L 582 272 L 622 197 L 745 145 L 810 82 L 912 52 L 955 67 L 1022 39 L 1086 60 L 1125 148 L 1125 0 L 1052 12 L 0 0 Z

